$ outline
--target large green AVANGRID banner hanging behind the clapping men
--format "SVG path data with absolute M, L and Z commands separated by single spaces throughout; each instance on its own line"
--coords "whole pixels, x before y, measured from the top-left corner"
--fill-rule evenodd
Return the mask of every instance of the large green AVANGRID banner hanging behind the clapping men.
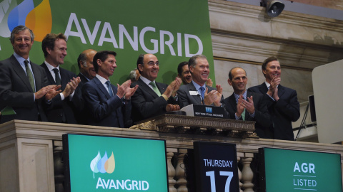
M 44 36 L 64 33 L 68 55 L 61 67 L 76 74 L 79 53 L 92 48 L 116 51 L 114 83 L 126 80 L 140 53 L 159 59 L 159 82 L 174 80 L 177 65 L 195 54 L 207 56 L 209 78 L 215 80 L 207 0 L 4 0 L 0 22 L 0 60 L 13 53 L 11 30 L 25 25 L 36 36 L 30 59 L 39 65 L 44 61 Z

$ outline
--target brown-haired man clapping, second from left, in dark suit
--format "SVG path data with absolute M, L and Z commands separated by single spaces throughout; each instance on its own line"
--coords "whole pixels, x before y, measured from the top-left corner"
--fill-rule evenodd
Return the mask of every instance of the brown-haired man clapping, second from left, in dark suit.
M 74 116 L 74 108 L 81 105 L 78 94 L 74 94 L 79 85 L 80 78 L 74 73 L 60 68 L 66 57 L 66 36 L 62 33 L 47 34 L 41 42 L 44 53 L 44 68 L 50 85 L 61 85 L 62 92 L 54 97 L 51 105 L 46 108 L 46 116 L 49 122 L 77 124 Z

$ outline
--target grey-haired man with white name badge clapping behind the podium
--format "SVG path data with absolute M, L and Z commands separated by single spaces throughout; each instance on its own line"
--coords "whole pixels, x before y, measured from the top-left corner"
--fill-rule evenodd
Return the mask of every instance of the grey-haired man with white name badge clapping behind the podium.
M 177 91 L 180 107 L 191 104 L 222 106 L 222 87 L 209 87 L 206 82 L 209 78 L 209 62 L 205 55 L 194 55 L 188 62 L 192 74 L 192 82 L 182 85 Z

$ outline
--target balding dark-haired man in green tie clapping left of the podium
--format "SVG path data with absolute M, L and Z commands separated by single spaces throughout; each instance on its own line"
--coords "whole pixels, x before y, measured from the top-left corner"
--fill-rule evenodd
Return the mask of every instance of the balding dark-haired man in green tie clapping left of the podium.
M 159 60 L 153 54 L 139 55 L 137 69 L 141 76 L 131 85 L 139 85 L 132 96 L 131 117 L 134 122 L 168 112 L 170 109 L 167 105 L 174 103 L 172 93 L 181 85 L 180 78 L 176 78 L 170 85 L 155 82 L 159 73 Z

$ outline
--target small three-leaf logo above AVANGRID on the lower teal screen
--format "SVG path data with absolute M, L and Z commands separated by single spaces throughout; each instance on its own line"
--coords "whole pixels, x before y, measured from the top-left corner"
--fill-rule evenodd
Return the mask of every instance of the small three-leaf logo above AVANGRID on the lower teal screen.
M 107 152 L 105 151 L 104 156 L 101 158 L 100 151 L 98 152 L 98 155 L 91 161 L 91 171 L 93 171 L 93 178 L 95 173 L 101 173 L 101 174 L 111 174 L 113 173 L 114 169 L 116 167 L 116 163 L 114 161 L 114 155 L 113 151 L 111 156 L 107 157 Z

